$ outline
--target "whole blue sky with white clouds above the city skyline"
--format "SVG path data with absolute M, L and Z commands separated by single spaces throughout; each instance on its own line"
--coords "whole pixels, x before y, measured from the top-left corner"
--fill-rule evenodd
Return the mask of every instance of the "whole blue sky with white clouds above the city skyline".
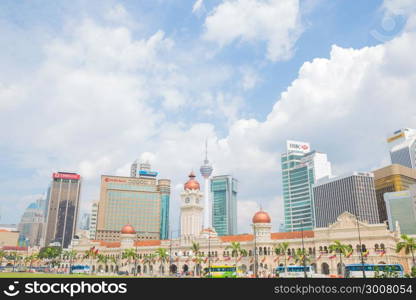
M 177 230 L 207 140 L 213 175 L 239 180 L 239 232 L 260 207 L 277 230 L 286 140 L 344 175 L 416 128 L 415 28 L 412 0 L 2 0 L 0 223 L 56 171 L 81 174 L 89 212 L 140 159 L 172 180 Z

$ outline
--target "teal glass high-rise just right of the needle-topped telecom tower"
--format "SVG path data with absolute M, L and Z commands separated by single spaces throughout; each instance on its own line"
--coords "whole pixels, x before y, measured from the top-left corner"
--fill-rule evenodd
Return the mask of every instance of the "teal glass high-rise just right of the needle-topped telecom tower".
M 237 234 L 238 181 L 230 175 L 211 178 L 212 225 L 218 235 Z

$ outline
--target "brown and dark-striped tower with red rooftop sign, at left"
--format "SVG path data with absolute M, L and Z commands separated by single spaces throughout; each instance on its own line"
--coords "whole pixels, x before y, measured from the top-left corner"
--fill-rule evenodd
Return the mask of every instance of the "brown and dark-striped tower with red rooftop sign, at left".
M 67 248 L 75 234 L 81 176 L 75 173 L 53 173 L 48 199 L 45 245 L 59 243 Z

